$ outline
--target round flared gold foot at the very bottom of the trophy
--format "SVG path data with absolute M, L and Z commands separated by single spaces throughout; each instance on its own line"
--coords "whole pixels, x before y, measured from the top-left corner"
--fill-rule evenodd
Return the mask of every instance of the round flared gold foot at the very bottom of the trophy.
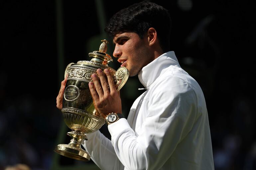
M 91 156 L 82 148 L 70 146 L 68 144 L 58 144 L 55 152 L 76 160 L 89 161 Z

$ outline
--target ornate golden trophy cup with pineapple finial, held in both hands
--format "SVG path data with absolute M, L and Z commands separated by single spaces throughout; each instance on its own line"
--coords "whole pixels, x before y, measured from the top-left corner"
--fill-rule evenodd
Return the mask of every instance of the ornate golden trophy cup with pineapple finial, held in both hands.
M 97 69 L 109 69 L 118 91 L 129 77 L 129 71 L 125 67 L 120 67 L 117 71 L 108 67 L 108 63 L 113 60 L 106 53 L 107 40 L 101 41 L 103 42 L 99 51 L 89 53 L 89 56 L 92 57 L 90 61 L 70 63 L 65 69 L 64 77 L 67 76 L 67 82 L 63 96 L 62 113 L 66 125 L 72 130 L 67 133 L 71 140 L 68 144 L 57 145 L 54 151 L 77 160 L 90 160 L 90 155 L 81 148 L 81 142 L 88 140 L 86 134 L 99 130 L 105 123 L 105 119 L 95 110 L 93 105 L 88 86 L 88 83 L 92 82 L 91 75 L 93 73 L 97 75 Z

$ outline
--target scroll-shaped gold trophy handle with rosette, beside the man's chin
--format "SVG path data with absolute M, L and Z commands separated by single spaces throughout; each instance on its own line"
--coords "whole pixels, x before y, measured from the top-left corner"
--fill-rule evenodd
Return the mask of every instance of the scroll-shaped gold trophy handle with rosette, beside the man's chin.
M 126 67 L 120 67 L 116 71 L 116 89 L 119 91 L 129 78 L 129 70 Z

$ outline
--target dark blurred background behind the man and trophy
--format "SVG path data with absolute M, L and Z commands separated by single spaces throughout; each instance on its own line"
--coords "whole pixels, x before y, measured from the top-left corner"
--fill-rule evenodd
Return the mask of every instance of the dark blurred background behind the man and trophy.
M 101 39 L 112 56 L 105 24 L 135 2 L 0 2 L 0 170 L 98 169 L 54 152 L 70 140 L 56 97 L 65 67 L 90 60 Z M 204 92 L 215 170 L 255 170 L 255 1 L 153 2 L 169 10 L 171 50 Z M 121 89 L 126 117 L 141 87 L 135 76 Z M 110 138 L 105 125 L 100 131 Z

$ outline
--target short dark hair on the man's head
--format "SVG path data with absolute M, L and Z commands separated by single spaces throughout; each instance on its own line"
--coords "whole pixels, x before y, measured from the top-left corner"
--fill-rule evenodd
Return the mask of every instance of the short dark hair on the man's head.
M 143 38 L 149 28 L 155 28 L 164 52 L 170 50 L 171 17 L 165 8 L 142 1 L 114 14 L 104 29 L 112 38 L 119 33 L 135 32 Z

